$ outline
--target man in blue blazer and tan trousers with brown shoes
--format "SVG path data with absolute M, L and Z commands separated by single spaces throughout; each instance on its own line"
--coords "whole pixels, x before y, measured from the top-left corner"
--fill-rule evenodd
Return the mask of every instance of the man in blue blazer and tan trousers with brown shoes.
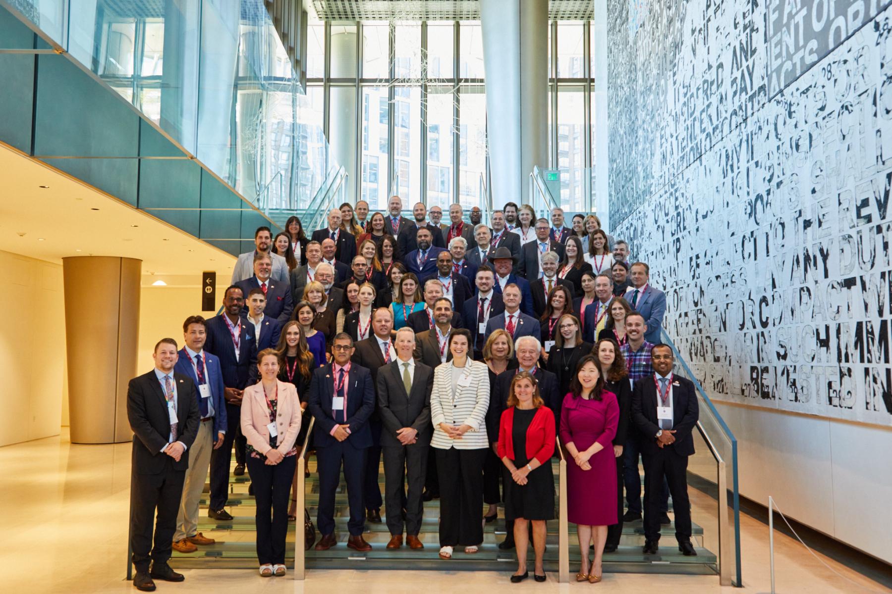
M 211 452 L 219 449 L 226 437 L 226 400 L 223 397 L 226 387 L 223 385 L 219 359 L 204 350 L 207 328 L 202 316 L 190 315 L 186 318 L 183 322 L 183 340 L 186 344 L 179 352 L 173 370 L 194 383 L 201 422 L 189 448 L 189 468 L 183 483 L 173 548 L 181 553 L 191 553 L 197 549 L 195 545 L 214 543 L 214 539 L 198 532 L 198 501 L 202 497 L 208 468 L 211 467 Z

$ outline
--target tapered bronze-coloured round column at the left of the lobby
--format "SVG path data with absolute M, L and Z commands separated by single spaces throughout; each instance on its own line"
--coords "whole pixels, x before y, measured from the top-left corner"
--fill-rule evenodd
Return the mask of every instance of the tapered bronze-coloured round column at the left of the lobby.
M 127 442 L 142 260 L 62 258 L 71 443 Z

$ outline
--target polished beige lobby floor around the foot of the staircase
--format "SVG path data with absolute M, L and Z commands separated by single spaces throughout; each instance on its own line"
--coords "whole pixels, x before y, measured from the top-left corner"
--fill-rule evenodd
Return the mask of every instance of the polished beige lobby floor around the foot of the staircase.
M 128 492 L 130 444 L 70 445 L 68 432 L 29 443 L 0 448 L 0 567 L 4 590 L 37 592 L 134 592 L 123 580 L 127 567 Z M 714 514 L 714 502 L 691 492 L 698 514 Z M 745 591 L 770 591 L 768 531 L 756 520 L 741 517 Z M 827 557 L 822 560 L 853 582 L 828 571 L 800 544 L 775 534 L 777 591 L 790 592 L 889 592 L 860 574 Z M 444 570 L 448 562 L 444 562 Z M 578 567 L 571 567 L 571 573 Z M 506 567 L 508 570 L 508 567 Z M 509 571 L 430 572 L 310 572 L 306 582 L 285 578 L 261 578 L 246 570 L 186 570 L 186 583 L 159 583 L 158 591 L 319 592 L 353 589 L 363 594 L 415 591 L 473 590 L 565 591 L 567 588 L 607 588 L 611 592 L 736 592 L 718 586 L 714 576 L 605 574 L 604 582 L 558 584 L 549 582 L 517 586 L 508 582 Z M 12 583 L 10 583 L 12 580 Z

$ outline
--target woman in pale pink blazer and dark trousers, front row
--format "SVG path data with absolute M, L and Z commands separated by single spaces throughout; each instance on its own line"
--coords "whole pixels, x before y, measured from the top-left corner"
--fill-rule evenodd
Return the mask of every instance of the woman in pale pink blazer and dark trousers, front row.
M 257 558 L 260 575 L 285 575 L 285 533 L 288 493 L 294 476 L 301 430 L 301 401 L 293 384 L 279 381 L 278 353 L 266 348 L 257 355 L 260 383 L 244 388 L 242 434 L 245 456 L 257 502 Z

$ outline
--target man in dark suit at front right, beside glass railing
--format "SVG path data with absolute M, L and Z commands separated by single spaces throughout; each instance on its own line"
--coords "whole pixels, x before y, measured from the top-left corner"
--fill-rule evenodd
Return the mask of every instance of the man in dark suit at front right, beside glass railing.
M 691 432 L 699 416 L 697 392 L 688 378 L 673 375 L 668 345 L 650 349 L 653 381 L 641 379 L 632 389 L 632 422 L 641 432 L 644 461 L 644 553 L 657 553 L 663 478 L 669 483 L 675 511 L 675 540 L 686 556 L 697 555 L 690 542 L 688 459 L 694 454 Z

